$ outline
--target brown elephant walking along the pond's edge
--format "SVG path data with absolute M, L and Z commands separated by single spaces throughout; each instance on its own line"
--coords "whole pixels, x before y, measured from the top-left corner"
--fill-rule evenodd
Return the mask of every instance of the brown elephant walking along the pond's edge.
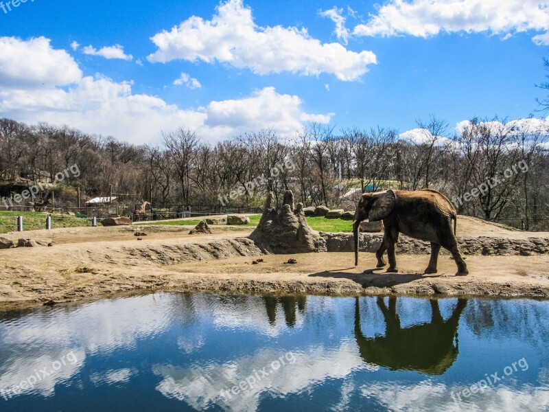
M 456 240 L 457 214 L 454 205 L 446 196 L 432 189 L 414 191 L 386 190 L 364 193 L 358 202 L 353 220 L 355 266 L 358 266 L 358 227 L 368 218 L 370 222 L 383 220 L 385 233 L 377 249 L 377 267 L 386 265 L 383 254 L 387 250 L 388 273 L 397 273 L 395 243 L 399 233 L 431 243 L 431 259 L 424 273 L 436 273 L 441 247 L 452 253 L 458 266 L 456 276 L 469 274 L 467 264 L 461 257 Z M 454 227 L 452 227 L 452 220 Z

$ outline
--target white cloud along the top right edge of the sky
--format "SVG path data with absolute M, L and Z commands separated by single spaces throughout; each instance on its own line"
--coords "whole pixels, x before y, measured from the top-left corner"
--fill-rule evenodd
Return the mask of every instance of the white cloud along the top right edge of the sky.
M 548 6 L 547 0 L 389 0 L 366 24 L 357 25 L 353 34 L 426 38 L 440 32 L 546 32 Z

